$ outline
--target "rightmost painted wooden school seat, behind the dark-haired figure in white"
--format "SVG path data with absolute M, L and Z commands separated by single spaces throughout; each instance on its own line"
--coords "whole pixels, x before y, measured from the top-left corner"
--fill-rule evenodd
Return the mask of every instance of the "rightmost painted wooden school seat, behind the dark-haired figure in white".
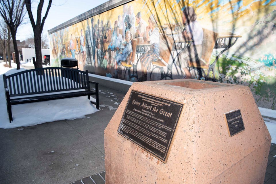
M 200 77 L 206 77 L 204 69 L 209 69 L 211 55 L 218 39 L 218 34 L 212 30 L 203 29 L 202 55 L 200 60 L 189 62 L 189 71 L 197 70 Z

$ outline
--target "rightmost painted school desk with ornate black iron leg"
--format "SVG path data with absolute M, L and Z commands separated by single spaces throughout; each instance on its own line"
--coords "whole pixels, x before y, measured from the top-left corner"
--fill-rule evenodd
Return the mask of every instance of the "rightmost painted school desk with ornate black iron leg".
M 214 31 L 214 35 L 217 35 L 214 49 L 223 49 L 223 50 L 216 56 L 216 59 L 214 60 L 214 62 L 209 65 L 208 72 L 205 76 L 206 80 L 212 80 L 212 81 L 216 81 L 215 66 L 218 61 L 218 58 L 221 56 L 223 52 L 227 51 L 230 47 L 232 47 L 237 42 L 238 38 L 241 37 L 237 34 L 233 34 L 232 32 L 228 32 L 228 31 L 223 31 L 223 32 Z M 212 76 L 210 76 L 210 74 Z

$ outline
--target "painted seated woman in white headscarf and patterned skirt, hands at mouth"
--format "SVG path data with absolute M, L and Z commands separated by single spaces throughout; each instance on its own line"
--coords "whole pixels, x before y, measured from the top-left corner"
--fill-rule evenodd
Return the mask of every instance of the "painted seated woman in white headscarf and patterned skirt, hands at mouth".
M 150 50 L 140 57 L 142 76 L 139 81 L 147 81 L 147 70 L 150 70 L 151 63 L 159 58 L 159 31 L 157 21 L 152 14 L 148 20 L 149 25 L 146 28 L 146 41 L 150 42 Z

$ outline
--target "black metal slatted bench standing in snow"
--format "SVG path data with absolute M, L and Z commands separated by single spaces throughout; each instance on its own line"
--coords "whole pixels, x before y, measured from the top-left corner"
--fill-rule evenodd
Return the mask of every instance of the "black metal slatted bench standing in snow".
M 89 81 L 88 71 L 70 68 L 37 68 L 3 75 L 7 111 L 12 121 L 11 106 L 79 96 L 96 95 L 99 109 L 98 83 Z M 95 84 L 95 90 L 90 89 Z

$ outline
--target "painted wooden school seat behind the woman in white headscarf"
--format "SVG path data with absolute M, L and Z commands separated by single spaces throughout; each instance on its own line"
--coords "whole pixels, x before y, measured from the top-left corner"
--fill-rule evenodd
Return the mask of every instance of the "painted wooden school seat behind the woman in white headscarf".
M 172 49 L 173 49 L 173 38 L 167 35 L 160 34 L 160 57 L 157 61 L 152 62 L 152 71 L 150 72 L 150 78 L 152 77 L 152 72 L 158 68 L 160 70 L 160 80 L 165 78 L 164 67 L 168 67 L 168 62 L 172 58 Z

